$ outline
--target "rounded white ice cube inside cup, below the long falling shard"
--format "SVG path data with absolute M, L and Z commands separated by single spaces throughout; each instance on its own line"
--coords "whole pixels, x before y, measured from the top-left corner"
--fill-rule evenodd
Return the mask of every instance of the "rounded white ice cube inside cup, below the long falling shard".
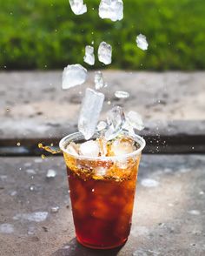
M 97 141 L 89 140 L 80 145 L 79 152 L 84 157 L 96 158 L 100 152 L 100 146 Z

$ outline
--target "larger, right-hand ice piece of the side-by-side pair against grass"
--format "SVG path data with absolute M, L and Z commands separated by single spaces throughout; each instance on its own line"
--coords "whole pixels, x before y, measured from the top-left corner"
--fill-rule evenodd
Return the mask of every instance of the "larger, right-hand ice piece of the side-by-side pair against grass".
M 103 64 L 110 64 L 112 62 L 112 46 L 106 42 L 102 42 L 98 48 L 98 59 Z

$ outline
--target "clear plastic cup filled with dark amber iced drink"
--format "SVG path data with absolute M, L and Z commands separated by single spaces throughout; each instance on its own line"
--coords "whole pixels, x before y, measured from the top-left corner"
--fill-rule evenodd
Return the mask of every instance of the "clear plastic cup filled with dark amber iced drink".
M 97 138 L 99 134 L 93 137 Z M 69 191 L 76 239 L 83 246 L 111 249 L 129 237 L 136 179 L 145 141 L 133 137 L 135 152 L 120 157 L 88 158 L 66 151 L 71 141 L 82 143 L 83 135 L 73 133 L 60 142 L 67 165 Z

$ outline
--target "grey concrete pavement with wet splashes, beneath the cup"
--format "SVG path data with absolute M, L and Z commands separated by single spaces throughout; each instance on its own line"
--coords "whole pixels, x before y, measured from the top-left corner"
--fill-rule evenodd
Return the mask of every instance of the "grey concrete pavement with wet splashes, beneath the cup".
M 204 155 L 143 155 L 129 240 L 106 252 L 76 242 L 63 157 L 0 162 L 0 255 L 205 255 Z

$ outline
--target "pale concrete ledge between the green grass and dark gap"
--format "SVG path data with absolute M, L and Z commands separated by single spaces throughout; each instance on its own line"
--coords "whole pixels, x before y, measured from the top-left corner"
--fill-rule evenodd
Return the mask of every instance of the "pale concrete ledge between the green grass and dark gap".
M 178 129 L 175 124 L 179 120 L 205 120 L 205 72 L 103 74 L 109 84 L 103 91 L 105 102 L 122 105 L 125 111 L 140 112 L 151 133 L 155 133 L 157 122 L 168 134 L 169 130 Z M 61 89 L 61 80 L 61 71 L 0 72 L 0 138 L 44 138 L 53 137 L 54 133 L 62 137 L 76 130 L 83 93 L 94 85 L 94 72 L 89 73 L 86 84 L 69 91 Z M 118 90 L 129 91 L 130 98 L 116 98 Z M 110 105 L 104 104 L 102 118 L 109 109 Z M 201 129 L 194 126 L 196 131 Z M 188 131 L 189 127 L 184 125 L 183 129 Z

